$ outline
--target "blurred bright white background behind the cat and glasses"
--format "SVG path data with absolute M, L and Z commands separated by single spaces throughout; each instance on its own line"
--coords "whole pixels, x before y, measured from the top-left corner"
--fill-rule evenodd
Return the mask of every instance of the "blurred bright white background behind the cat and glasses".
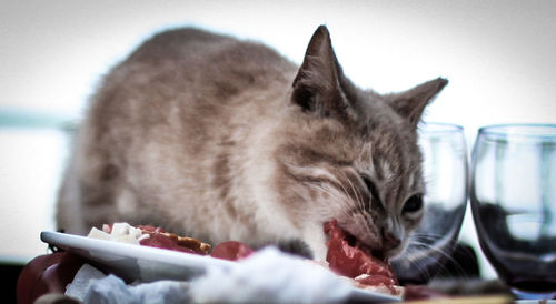
M 477 129 L 556 123 L 556 1 L 2 0 L 0 262 L 26 263 L 54 230 L 71 129 L 101 77 L 151 34 L 195 26 L 262 41 L 300 63 L 328 26 L 345 73 L 386 93 L 450 83 L 426 120 Z M 477 247 L 468 213 L 460 239 Z M 494 272 L 481 256 L 483 276 Z

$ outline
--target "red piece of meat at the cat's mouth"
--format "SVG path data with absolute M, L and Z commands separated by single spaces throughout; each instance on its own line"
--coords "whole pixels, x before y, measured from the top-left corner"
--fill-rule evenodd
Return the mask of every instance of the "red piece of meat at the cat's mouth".
M 324 225 L 328 235 L 328 253 L 326 261 L 330 270 L 350 277 L 358 287 L 369 290 L 386 290 L 393 295 L 399 295 L 400 288 L 393 267 L 388 261 L 377 259 L 361 244 L 350 244 L 351 237 L 332 220 Z

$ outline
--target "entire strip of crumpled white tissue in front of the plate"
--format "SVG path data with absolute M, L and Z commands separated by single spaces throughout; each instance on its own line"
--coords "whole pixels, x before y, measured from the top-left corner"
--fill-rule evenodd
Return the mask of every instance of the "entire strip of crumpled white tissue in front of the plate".
M 351 285 L 310 261 L 267 247 L 231 267 L 209 266 L 191 282 L 126 283 L 90 265 L 66 295 L 83 303 L 338 303 Z

